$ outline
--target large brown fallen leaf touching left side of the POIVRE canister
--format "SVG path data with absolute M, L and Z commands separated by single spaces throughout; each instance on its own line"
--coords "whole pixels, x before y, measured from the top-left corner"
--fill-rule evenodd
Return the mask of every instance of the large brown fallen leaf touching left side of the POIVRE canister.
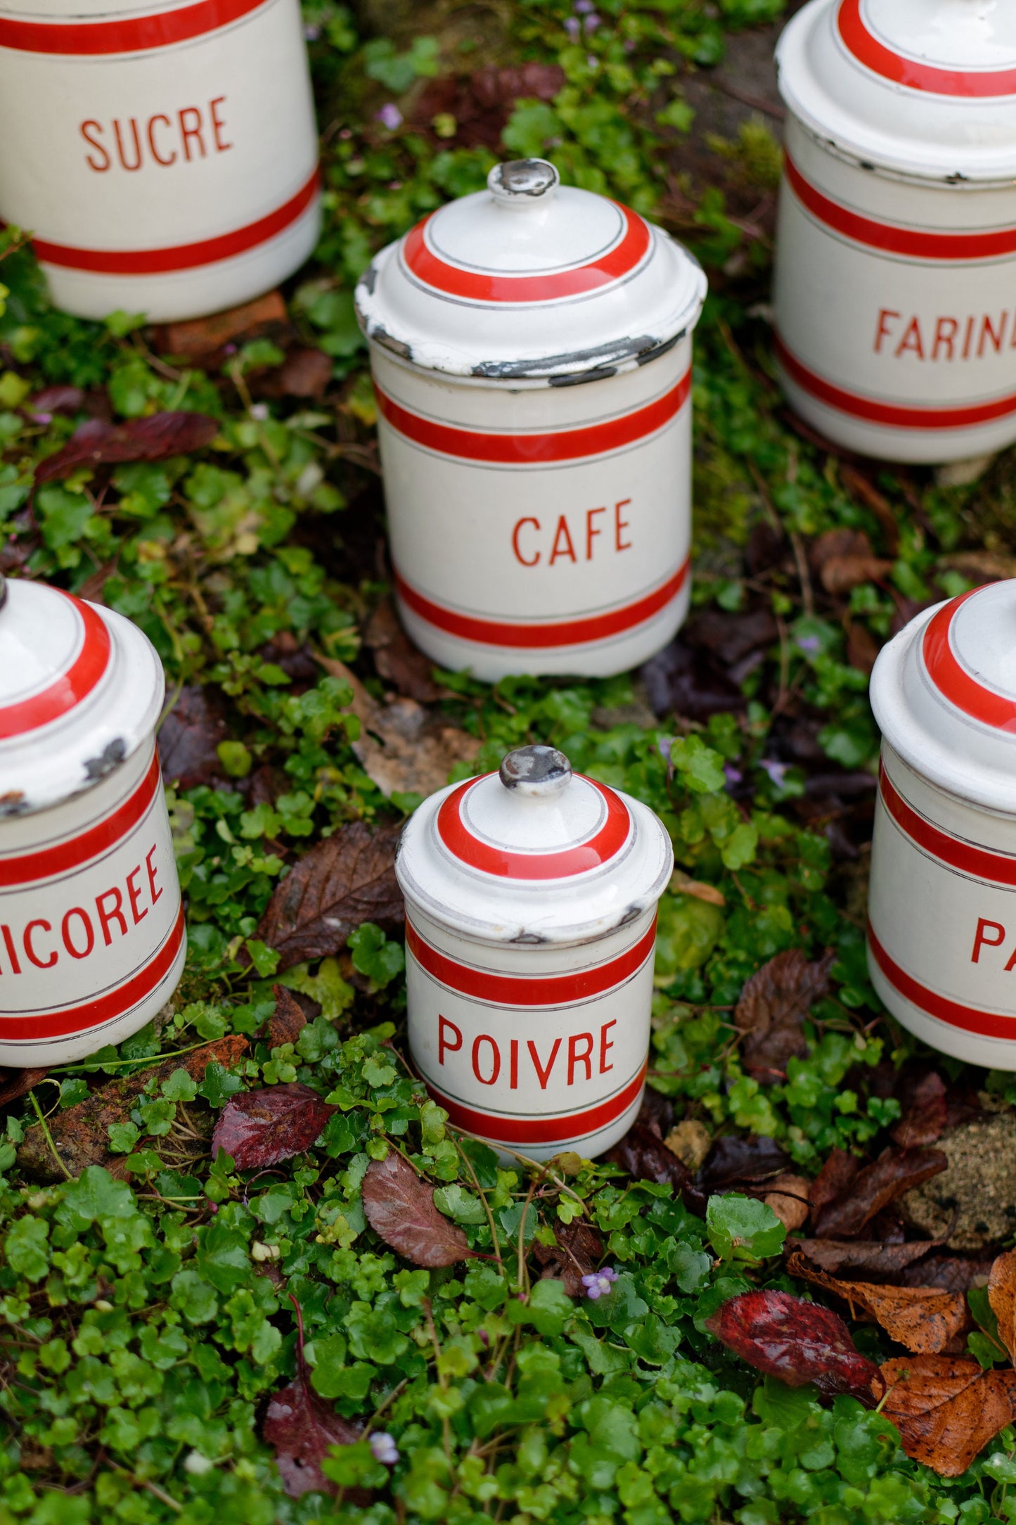
M 399 831 L 372 833 L 352 820 L 294 863 L 257 924 L 257 936 L 280 955 L 280 970 L 337 953 L 364 921 L 402 921 Z

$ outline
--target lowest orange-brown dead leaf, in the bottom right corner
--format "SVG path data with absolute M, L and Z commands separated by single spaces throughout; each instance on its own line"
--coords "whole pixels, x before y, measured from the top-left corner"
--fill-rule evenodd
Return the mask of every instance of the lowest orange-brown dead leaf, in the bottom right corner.
M 882 1412 L 903 1450 L 941 1478 L 958 1478 L 1014 1417 L 1016 1371 L 984 1371 L 952 1356 L 902 1356 L 882 1363 Z

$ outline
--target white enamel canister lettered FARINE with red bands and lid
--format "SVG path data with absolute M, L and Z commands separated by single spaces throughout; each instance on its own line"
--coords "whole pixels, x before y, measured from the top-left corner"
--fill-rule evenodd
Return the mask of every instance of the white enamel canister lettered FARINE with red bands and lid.
M 1016 441 L 1016 5 L 810 0 L 774 287 L 794 409 L 888 461 Z

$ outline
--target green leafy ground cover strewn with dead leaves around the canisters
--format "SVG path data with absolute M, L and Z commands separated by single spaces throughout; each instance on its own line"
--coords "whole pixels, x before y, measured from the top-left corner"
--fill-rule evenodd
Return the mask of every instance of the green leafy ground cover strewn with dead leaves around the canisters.
M 1011 575 L 1011 471 L 851 462 L 783 409 L 783 11 L 305 0 L 324 235 L 222 320 L 69 319 L 5 233 L 0 569 L 158 648 L 190 938 L 158 1023 L 2 1077 L 5 1525 L 1016 1517 L 1016 1083 L 864 962 L 867 674 Z M 640 674 L 487 688 L 395 621 L 350 291 L 542 152 L 708 268 L 695 608 Z M 405 1066 L 391 859 L 536 740 L 678 868 L 637 1125 L 504 1168 Z

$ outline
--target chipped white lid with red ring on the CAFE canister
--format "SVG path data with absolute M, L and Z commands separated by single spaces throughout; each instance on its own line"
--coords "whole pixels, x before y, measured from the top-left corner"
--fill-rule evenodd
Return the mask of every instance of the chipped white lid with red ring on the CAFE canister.
M 698 261 L 618 201 L 562 186 L 545 159 L 495 165 L 373 259 L 356 287 L 369 339 L 427 371 L 585 380 L 692 329 Z

